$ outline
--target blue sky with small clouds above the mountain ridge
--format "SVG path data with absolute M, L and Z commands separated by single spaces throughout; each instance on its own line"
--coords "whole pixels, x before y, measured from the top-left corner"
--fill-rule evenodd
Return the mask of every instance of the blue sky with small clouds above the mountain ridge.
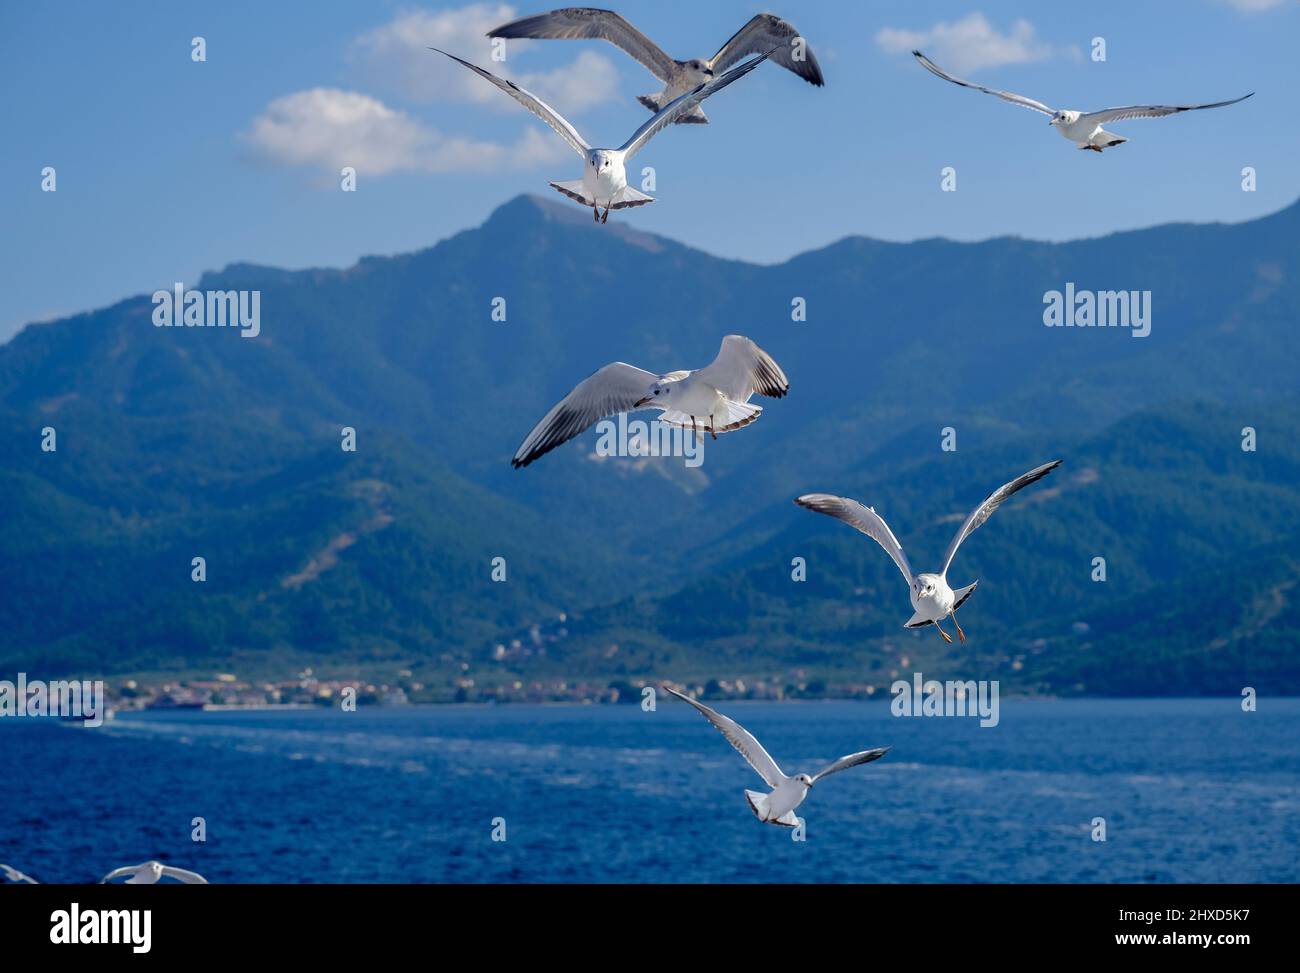
M 554 0 L 552 0 L 554 1 Z M 482 25 L 515 3 L 49 3 L 0 10 L 0 340 L 22 324 L 192 284 L 237 260 L 346 267 L 429 246 L 581 164 L 437 43 L 552 99 L 595 144 L 621 143 L 660 86 L 601 42 L 508 47 Z M 676 57 L 706 57 L 758 7 L 627 0 Z M 638 164 L 658 202 L 611 220 L 724 256 L 775 261 L 848 234 L 1069 239 L 1166 221 L 1239 221 L 1300 195 L 1297 0 L 824 3 L 768 7 L 827 77 L 763 65 L 658 135 Z M 191 61 L 191 38 L 207 61 Z M 1106 40 L 1105 62 L 1089 57 Z M 923 72 L 1079 109 L 1258 94 L 1232 108 L 1110 127 L 1080 152 L 1045 118 Z M 602 98 L 602 92 L 604 98 Z M 342 159 L 358 191 L 342 193 Z M 40 191 L 43 167 L 57 191 Z M 957 169 L 957 191 L 940 170 Z M 1243 193 L 1254 167 L 1258 189 Z

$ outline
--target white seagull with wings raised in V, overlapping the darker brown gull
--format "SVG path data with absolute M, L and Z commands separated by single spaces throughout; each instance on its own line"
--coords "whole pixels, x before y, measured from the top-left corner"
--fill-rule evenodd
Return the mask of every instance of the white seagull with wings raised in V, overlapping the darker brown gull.
M 436 47 L 429 49 L 438 51 Z M 745 77 L 759 64 L 766 61 L 772 52 L 768 51 L 758 57 L 753 57 L 740 68 L 732 68 L 720 78 L 714 78 L 696 85 L 690 88 L 690 91 L 664 105 L 650 121 L 632 133 L 632 138 L 624 142 L 619 148 L 593 148 L 586 143 L 586 139 L 578 135 L 577 129 L 569 125 L 569 122 L 566 121 L 559 112 L 546 104 L 537 95 L 525 91 L 512 81 L 498 78 L 495 74 L 485 72 L 477 65 L 469 64 L 469 61 L 463 61 L 455 55 L 448 55 L 446 51 L 438 51 L 438 53 L 447 55 L 447 57 L 452 61 L 463 64 L 469 70 L 481 74 L 484 78 L 524 105 L 524 108 L 555 129 L 559 137 L 564 139 L 575 152 L 582 156 L 584 167 L 581 180 L 552 182 L 550 185 L 569 199 L 575 199 L 582 206 L 592 207 L 592 216 L 599 222 L 604 222 L 610 219 L 611 209 L 623 209 L 629 206 L 645 206 L 646 203 L 654 202 L 654 196 L 638 193 L 628 185 L 628 173 L 625 168 L 627 161 L 640 152 L 660 129 L 681 116 L 682 112 L 689 112 L 715 91 L 722 91 L 733 81 Z M 604 216 L 601 216 L 599 208 L 602 206 L 604 207 Z

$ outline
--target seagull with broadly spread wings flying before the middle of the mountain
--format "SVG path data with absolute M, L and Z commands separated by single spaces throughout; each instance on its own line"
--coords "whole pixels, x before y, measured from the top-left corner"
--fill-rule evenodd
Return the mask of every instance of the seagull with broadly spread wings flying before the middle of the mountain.
M 741 334 L 728 334 L 718 358 L 694 371 L 655 375 L 624 362 L 612 362 L 584 379 L 556 402 L 515 451 L 511 466 L 528 466 L 568 442 L 606 416 L 637 408 L 658 408 L 659 421 L 699 434 L 740 429 L 758 419 L 762 406 L 749 405 L 754 393 L 781 398 L 790 380 L 771 355 Z

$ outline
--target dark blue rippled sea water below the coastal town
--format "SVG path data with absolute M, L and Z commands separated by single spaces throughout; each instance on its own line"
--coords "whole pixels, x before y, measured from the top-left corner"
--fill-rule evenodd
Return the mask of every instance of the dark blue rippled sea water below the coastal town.
M 1004 701 L 989 728 L 722 709 L 789 773 L 893 751 L 820 782 L 794 842 L 671 700 L 0 719 L 0 861 L 46 882 L 148 859 L 213 882 L 1300 881 L 1300 700 Z

